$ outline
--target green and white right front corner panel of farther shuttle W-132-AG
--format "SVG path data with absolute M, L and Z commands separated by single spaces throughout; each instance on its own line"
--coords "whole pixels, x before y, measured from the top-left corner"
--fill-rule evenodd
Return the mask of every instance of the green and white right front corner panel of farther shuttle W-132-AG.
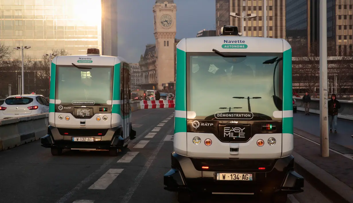
M 113 99 L 112 99 L 112 128 L 121 125 L 122 118 L 120 112 L 120 63 L 114 65 L 113 76 Z

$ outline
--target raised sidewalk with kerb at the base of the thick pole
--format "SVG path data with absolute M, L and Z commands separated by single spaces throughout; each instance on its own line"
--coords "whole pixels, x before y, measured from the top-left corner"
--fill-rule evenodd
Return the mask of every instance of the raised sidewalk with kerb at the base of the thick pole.
M 294 128 L 295 170 L 334 202 L 353 203 L 353 150 L 330 142 L 329 157 L 321 157 L 319 143 L 319 137 Z

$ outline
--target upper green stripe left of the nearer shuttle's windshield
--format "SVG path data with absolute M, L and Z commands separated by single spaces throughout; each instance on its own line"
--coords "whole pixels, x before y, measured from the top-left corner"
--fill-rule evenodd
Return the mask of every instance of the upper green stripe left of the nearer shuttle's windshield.
M 175 100 L 175 110 L 186 111 L 186 52 L 180 49 L 177 49 Z

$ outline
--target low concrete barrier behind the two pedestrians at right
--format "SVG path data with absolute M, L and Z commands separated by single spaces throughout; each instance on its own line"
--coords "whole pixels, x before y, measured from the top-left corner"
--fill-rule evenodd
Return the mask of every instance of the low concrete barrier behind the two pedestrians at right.
M 295 103 L 297 104 L 297 110 L 305 111 L 304 102 L 301 97 L 293 97 Z M 338 118 L 353 120 L 353 101 L 338 100 L 341 104 L 341 108 L 338 109 Z M 320 99 L 311 98 L 309 112 L 320 114 Z

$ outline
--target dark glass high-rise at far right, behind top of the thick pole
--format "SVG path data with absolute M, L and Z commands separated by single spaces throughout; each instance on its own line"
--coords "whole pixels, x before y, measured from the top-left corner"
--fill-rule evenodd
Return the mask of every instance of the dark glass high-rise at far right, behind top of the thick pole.
M 342 56 L 353 51 L 352 5 L 353 1 L 349 0 L 327 0 L 328 56 Z M 292 46 L 304 46 L 307 53 L 318 56 L 319 1 L 287 0 L 286 9 L 288 42 Z

